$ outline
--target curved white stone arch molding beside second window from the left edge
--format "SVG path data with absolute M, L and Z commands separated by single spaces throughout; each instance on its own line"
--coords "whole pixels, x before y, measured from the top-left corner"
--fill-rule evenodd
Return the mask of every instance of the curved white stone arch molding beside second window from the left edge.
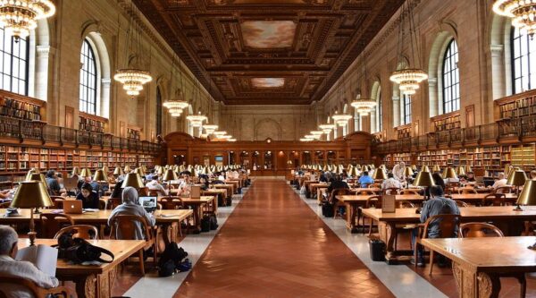
M 93 49 L 96 62 L 96 115 L 110 118 L 110 106 L 113 104 L 110 97 L 112 84 L 112 65 L 110 55 L 106 47 L 105 39 L 102 38 L 98 22 L 87 21 L 83 27 L 80 48 L 84 40 L 87 40 Z

